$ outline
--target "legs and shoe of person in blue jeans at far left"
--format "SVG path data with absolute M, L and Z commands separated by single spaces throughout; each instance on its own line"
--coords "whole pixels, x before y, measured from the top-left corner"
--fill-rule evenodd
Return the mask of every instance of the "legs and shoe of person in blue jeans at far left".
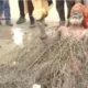
M 6 24 L 12 26 L 9 0 L 0 0 L 0 15 L 4 14 Z

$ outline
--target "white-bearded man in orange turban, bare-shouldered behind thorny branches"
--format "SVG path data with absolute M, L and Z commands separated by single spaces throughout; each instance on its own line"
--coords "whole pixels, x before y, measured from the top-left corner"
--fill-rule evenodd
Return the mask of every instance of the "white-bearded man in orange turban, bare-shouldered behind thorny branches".
M 75 4 L 70 10 L 70 16 L 67 25 L 61 26 L 56 31 L 56 34 L 53 37 L 53 40 L 59 40 L 61 36 L 68 37 L 73 35 L 77 40 L 87 41 L 88 40 L 87 18 L 88 18 L 87 8 L 81 3 Z

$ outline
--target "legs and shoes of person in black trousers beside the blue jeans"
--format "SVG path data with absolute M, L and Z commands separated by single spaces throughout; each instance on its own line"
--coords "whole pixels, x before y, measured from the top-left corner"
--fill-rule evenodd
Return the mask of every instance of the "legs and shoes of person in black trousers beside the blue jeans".
M 35 22 L 32 16 L 33 12 L 33 4 L 31 0 L 26 0 L 28 2 L 28 11 L 29 11 L 29 18 L 30 18 L 30 26 L 33 28 Z M 24 0 L 19 0 L 19 9 L 20 9 L 20 18 L 16 21 L 16 24 L 21 24 L 25 22 L 25 12 L 24 12 Z

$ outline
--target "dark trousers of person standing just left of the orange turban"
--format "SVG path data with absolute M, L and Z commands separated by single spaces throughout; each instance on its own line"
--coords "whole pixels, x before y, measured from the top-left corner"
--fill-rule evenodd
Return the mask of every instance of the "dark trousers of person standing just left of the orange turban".
M 56 10 L 59 14 L 61 21 L 65 21 L 64 2 L 65 0 L 56 0 Z M 67 19 L 68 19 L 70 15 L 70 9 L 75 4 L 75 2 L 70 0 L 66 0 L 66 3 L 68 9 L 68 15 L 67 15 Z

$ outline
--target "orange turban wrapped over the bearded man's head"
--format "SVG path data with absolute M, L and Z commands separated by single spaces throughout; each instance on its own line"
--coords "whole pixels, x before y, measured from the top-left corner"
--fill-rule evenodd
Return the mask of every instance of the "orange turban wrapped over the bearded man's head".
M 86 8 L 84 4 L 81 4 L 81 3 L 76 3 L 76 4 L 72 8 L 70 13 L 72 13 L 74 10 L 76 10 L 77 8 L 79 8 L 79 9 L 82 11 L 85 18 L 88 18 L 88 10 L 87 10 L 87 8 Z

